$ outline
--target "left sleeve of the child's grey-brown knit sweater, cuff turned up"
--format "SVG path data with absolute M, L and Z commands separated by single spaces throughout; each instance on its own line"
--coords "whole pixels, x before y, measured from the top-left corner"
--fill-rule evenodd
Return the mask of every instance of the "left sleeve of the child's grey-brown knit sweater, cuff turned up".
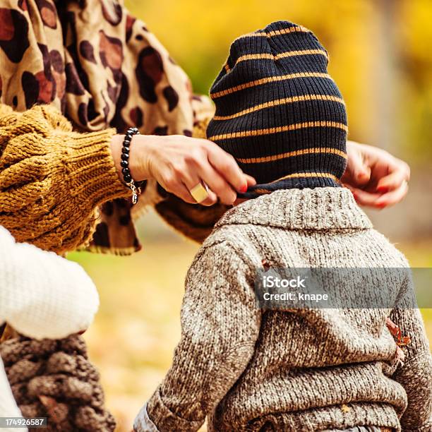
M 181 340 L 162 384 L 141 409 L 134 427 L 147 431 L 198 431 L 250 361 L 260 311 L 246 265 L 220 243 L 199 253 L 186 278 Z M 147 409 L 146 409 L 147 408 Z

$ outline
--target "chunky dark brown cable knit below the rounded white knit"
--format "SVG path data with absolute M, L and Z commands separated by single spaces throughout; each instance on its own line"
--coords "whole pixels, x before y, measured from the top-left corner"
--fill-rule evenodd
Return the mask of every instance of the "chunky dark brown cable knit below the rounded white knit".
M 0 354 L 23 416 L 46 416 L 45 431 L 114 431 L 99 373 L 88 361 L 82 337 L 13 338 L 0 345 Z

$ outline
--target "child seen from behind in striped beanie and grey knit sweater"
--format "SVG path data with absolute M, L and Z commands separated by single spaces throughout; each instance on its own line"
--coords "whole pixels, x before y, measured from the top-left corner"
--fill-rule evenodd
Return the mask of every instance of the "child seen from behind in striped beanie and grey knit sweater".
M 210 431 L 432 431 L 424 325 L 407 307 L 404 272 L 385 271 L 408 264 L 340 186 L 347 116 L 327 65 L 313 33 L 292 23 L 232 44 L 211 90 L 208 138 L 258 185 L 193 260 L 181 341 L 136 431 L 197 431 L 207 416 Z M 263 310 L 263 264 L 351 268 L 342 299 L 385 287 L 390 306 Z M 361 268 L 383 269 L 369 291 Z M 411 340 L 404 366 L 390 320 Z

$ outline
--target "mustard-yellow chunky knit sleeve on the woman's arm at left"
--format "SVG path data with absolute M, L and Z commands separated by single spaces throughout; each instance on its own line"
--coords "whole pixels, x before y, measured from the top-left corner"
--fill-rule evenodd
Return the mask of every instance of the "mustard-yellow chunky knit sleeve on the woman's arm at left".
M 54 107 L 18 114 L 0 104 L 0 224 L 57 253 L 85 244 L 97 206 L 129 193 L 112 160 L 114 133 L 72 131 Z

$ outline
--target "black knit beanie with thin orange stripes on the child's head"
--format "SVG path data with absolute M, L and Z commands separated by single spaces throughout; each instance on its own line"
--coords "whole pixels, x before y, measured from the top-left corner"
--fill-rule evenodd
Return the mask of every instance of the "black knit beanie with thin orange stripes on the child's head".
M 347 112 L 327 65 L 316 36 L 286 21 L 233 42 L 210 90 L 207 136 L 255 177 L 244 197 L 340 185 Z

